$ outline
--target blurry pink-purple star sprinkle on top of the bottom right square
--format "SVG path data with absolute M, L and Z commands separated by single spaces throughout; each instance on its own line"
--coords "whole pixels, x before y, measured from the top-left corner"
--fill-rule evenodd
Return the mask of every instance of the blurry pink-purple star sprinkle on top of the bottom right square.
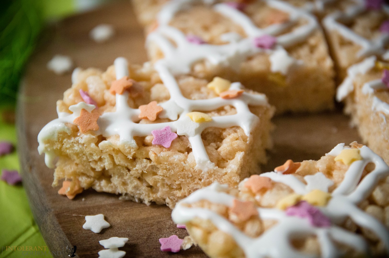
M 300 201 L 298 204 L 286 209 L 287 216 L 298 216 L 307 218 L 314 227 L 329 227 L 331 220 L 324 215 L 318 208 L 310 205 L 306 201 Z

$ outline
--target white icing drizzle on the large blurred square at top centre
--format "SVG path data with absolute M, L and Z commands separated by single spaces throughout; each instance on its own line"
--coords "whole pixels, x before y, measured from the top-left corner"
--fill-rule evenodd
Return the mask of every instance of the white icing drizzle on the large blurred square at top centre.
M 271 54 L 279 48 L 299 43 L 305 40 L 315 29 L 318 29 L 318 24 L 314 16 L 279 0 L 266 0 L 265 2 L 275 9 L 289 13 L 290 20 L 284 24 L 273 24 L 264 29 L 256 27 L 251 19 L 243 12 L 225 3 L 218 3 L 213 6 L 214 10 L 229 17 L 240 25 L 247 34 L 247 38 L 239 39 L 234 36 L 231 40 L 231 35 L 228 35 L 227 38 L 223 36 L 223 40 L 230 43 L 224 45 L 196 45 L 188 42 L 186 35 L 179 29 L 170 26 L 169 23 L 180 10 L 187 9 L 195 3 L 202 2 L 205 4 L 213 3 L 213 1 L 205 0 L 175 0 L 166 3 L 158 14 L 158 28 L 147 36 L 146 43 L 155 43 L 158 45 L 164 54 L 164 64 L 173 74 L 190 73 L 191 66 L 201 60 L 206 60 L 211 65 L 231 67 L 239 70 L 240 64 L 247 57 L 258 52 Z M 261 35 L 278 35 L 284 29 L 296 24 L 298 19 L 305 19 L 307 23 L 289 33 L 277 36 L 278 46 L 274 50 L 265 50 L 255 47 L 253 44 L 254 38 Z

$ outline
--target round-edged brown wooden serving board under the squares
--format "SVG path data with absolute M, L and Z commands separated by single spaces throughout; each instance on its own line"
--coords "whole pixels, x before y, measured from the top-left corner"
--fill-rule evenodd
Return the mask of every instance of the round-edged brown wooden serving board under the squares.
M 51 187 L 53 170 L 39 156 L 37 135 L 49 121 L 57 118 L 56 100 L 71 85 L 71 76 L 56 75 L 46 68 L 55 54 L 69 55 L 75 66 L 105 70 L 118 56 L 130 62 L 147 60 L 142 28 L 137 24 L 132 7 L 126 0 L 115 2 L 85 14 L 65 19 L 48 28 L 31 58 L 21 85 L 18 102 L 19 153 L 25 186 L 35 221 L 56 257 L 64 257 L 67 246 L 77 246 L 79 257 L 97 257 L 102 246 L 99 240 L 128 237 L 121 248 L 126 257 L 206 257 L 198 247 L 177 254 L 160 251 L 158 239 L 177 234 L 166 206 L 121 201 L 119 196 L 86 190 L 74 200 L 57 194 Z M 105 43 L 89 38 L 89 31 L 98 24 L 112 24 L 116 35 Z M 286 159 L 294 161 L 318 159 L 336 144 L 359 140 L 356 130 L 349 127 L 349 118 L 340 111 L 319 115 L 282 116 L 274 119 L 275 147 L 263 171 L 271 171 Z M 84 199 L 84 201 L 83 201 Z M 95 234 L 82 229 L 85 215 L 102 213 L 111 227 Z M 82 215 L 82 216 L 76 216 Z M 66 254 L 66 253 L 65 253 Z

